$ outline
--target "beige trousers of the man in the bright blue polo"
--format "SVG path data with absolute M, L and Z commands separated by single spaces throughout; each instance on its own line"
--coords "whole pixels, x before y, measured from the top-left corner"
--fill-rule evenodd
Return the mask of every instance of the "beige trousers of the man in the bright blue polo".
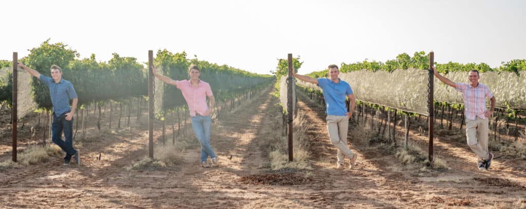
M 354 155 L 347 147 L 349 118 L 347 116 L 327 116 L 327 131 L 332 144 L 338 148 L 338 164 L 343 164 L 343 155 L 351 159 Z

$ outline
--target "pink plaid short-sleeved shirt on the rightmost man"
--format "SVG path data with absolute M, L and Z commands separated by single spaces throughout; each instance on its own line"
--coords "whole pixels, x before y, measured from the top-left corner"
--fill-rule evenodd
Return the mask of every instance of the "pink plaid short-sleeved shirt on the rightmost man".
M 488 86 L 479 83 L 477 87 L 472 87 L 468 83 L 457 83 L 455 90 L 462 92 L 464 99 L 464 112 L 467 119 L 475 120 L 477 116 L 485 119 L 484 112 L 486 111 L 486 100 L 493 97 Z

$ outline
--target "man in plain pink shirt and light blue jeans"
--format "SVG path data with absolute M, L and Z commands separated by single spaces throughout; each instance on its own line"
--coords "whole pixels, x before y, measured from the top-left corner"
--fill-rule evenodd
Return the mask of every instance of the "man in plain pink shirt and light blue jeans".
M 157 70 L 152 66 L 155 77 L 161 81 L 176 86 L 183 93 L 183 97 L 188 104 L 192 121 L 192 128 L 201 144 L 201 165 L 205 168 L 210 167 L 208 156 L 210 156 L 212 165 L 217 166 L 217 156 L 210 147 L 210 114 L 215 105 L 214 95 L 210 85 L 199 79 L 200 69 L 197 65 L 188 67 L 190 80 L 172 80 L 163 75 L 157 74 Z M 206 97 L 210 100 L 210 107 L 206 104 Z

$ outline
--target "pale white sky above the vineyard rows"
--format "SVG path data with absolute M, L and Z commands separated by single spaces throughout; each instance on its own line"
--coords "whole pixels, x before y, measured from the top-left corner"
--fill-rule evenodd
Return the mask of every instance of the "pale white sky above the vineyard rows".
M 435 61 L 526 59 L 526 1 L 2 1 L 0 59 L 47 38 L 89 57 L 145 62 L 148 50 L 268 74 L 300 56 L 300 74 L 398 54 Z

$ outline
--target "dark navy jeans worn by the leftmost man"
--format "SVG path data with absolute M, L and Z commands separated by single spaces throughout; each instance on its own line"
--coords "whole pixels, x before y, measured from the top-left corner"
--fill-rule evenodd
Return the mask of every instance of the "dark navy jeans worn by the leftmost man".
M 71 120 L 66 120 L 66 113 L 62 113 L 57 116 L 53 112 L 53 123 L 51 124 L 52 130 L 52 141 L 57 144 L 58 147 L 62 148 L 66 152 L 64 161 L 71 160 L 71 157 L 75 154 L 75 149 L 73 148 L 73 118 Z M 62 131 L 64 131 L 64 138 L 66 141 L 62 140 Z

